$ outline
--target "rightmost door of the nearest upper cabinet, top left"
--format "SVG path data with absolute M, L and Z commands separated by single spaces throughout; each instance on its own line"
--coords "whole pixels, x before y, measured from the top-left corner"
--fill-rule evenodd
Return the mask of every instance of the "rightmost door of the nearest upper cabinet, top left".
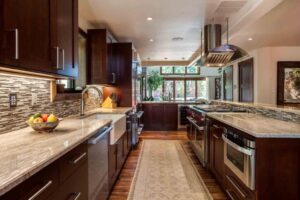
M 77 0 L 56 0 L 52 5 L 54 15 L 52 38 L 58 51 L 57 73 L 78 76 L 78 2 Z

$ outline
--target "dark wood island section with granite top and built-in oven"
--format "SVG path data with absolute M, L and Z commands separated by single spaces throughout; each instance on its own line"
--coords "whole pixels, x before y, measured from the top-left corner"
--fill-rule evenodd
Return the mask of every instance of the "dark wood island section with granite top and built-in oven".
M 207 116 L 208 169 L 229 197 L 300 198 L 300 124 L 253 113 Z

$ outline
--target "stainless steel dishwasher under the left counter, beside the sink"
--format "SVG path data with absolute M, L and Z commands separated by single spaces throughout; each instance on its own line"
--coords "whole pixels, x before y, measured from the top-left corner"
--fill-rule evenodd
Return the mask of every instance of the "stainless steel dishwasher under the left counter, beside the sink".
M 107 199 L 108 145 L 112 126 L 98 131 L 88 140 L 89 200 Z

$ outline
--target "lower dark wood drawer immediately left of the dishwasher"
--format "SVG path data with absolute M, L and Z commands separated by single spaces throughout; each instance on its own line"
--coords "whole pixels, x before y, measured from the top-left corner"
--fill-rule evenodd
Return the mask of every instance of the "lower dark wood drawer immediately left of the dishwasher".
M 59 200 L 88 199 L 88 165 L 82 164 L 59 188 Z

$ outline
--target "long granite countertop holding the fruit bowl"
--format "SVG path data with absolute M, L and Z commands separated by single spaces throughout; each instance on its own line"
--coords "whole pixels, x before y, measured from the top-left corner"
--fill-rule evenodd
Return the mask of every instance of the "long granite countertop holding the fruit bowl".
M 126 109 L 118 110 L 125 112 Z M 93 112 L 97 112 L 93 110 Z M 69 117 L 53 133 L 37 133 L 30 127 L 0 135 L 0 195 L 107 126 L 111 120 Z

